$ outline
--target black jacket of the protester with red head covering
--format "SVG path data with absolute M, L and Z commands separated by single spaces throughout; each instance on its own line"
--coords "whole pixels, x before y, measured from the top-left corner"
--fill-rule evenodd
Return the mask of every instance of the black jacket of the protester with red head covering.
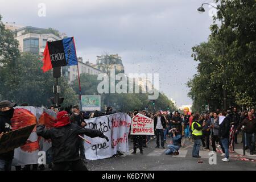
M 63 127 L 55 127 L 49 130 L 44 126 L 38 125 L 36 133 L 52 141 L 53 163 L 69 162 L 79 160 L 79 134 L 85 134 L 94 138 L 103 135 L 99 130 L 84 129 L 74 123 Z

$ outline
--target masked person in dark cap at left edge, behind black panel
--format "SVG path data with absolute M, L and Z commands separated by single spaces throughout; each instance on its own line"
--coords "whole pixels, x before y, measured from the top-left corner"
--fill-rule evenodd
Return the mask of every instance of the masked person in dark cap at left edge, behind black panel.
M 0 102 L 0 134 L 11 131 L 11 118 L 13 118 L 16 104 L 10 101 Z M 0 171 L 11 171 L 14 150 L 0 154 Z

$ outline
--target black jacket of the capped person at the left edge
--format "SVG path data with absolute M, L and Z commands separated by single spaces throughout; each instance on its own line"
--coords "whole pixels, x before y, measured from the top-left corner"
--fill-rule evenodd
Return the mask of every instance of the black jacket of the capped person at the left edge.
M 5 116 L 3 112 L 0 111 L 0 134 L 11 131 L 11 118 Z M 0 159 L 11 160 L 14 156 L 14 150 L 0 154 Z

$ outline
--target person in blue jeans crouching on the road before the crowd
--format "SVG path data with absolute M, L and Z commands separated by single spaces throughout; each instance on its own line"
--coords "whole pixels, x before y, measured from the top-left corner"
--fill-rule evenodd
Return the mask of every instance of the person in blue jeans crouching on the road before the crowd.
M 168 150 L 166 155 L 179 155 L 179 144 L 181 142 L 181 133 L 176 128 L 169 130 L 169 133 L 172 133 L 172 144 L 168 144 Z

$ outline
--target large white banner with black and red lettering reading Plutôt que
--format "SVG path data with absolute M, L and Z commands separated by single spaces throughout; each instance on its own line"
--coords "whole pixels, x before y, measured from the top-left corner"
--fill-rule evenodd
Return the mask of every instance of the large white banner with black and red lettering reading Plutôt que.
M 90 138 L 85 136 L 85 139 L 90 141 L 90 144 L 85 142 L 86 159 L 105 159 L 117 154 L 117 151 L 129 151 L 128 135 L 131 118 L 126 113 L 90 118 L 86 119 L 85 122 L 87 123 L 86 128 L 100 130 L 109 138 L 109 142 L 107 142 L 106 139 L 99 137 Z

